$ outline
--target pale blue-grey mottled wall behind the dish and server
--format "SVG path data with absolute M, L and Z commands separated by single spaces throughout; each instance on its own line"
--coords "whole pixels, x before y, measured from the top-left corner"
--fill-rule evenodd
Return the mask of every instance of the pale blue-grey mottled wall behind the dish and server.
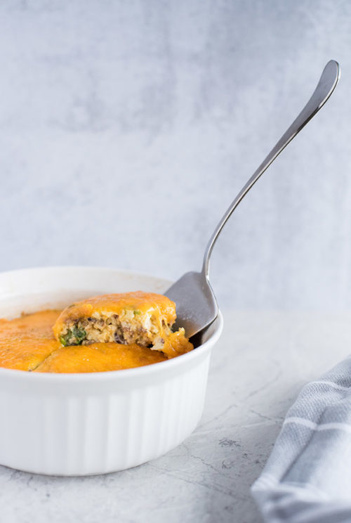
M 0 4 L 0 269 L 197 269 L 302 108 L 342 78 L 227 224 L 222 306 L 351 306 L 351 2 Z

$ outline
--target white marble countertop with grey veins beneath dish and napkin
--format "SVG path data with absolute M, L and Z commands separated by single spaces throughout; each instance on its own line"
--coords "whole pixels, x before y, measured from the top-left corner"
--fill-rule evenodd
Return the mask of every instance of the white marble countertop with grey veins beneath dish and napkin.
M 3 523 L 258 522 L 249 488 L 299 389 L 350 353 L 351 312 L 227 311 L 204 415 L 163 458 L 93 477 L 0 467 Z

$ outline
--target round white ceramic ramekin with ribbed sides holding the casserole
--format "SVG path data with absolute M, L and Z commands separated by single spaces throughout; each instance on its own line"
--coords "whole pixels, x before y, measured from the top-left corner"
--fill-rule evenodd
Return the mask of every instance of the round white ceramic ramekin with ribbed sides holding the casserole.
M 106 292 L 164 292 L 170 282 L 91 267 L 0 273 L 0 318 Z M 39 474 L 124 470 L 171 450 L 197 426 L 220 315 L 201 345 L 150 366 L 41 374 L 0 368 L 0 463 Z

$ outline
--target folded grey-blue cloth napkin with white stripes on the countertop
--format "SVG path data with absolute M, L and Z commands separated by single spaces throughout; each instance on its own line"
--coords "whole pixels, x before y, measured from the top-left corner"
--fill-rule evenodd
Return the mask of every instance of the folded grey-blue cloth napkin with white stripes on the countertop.
M 303 387 L 251 491 L 265 522 L 351 522 L 351 356 Z

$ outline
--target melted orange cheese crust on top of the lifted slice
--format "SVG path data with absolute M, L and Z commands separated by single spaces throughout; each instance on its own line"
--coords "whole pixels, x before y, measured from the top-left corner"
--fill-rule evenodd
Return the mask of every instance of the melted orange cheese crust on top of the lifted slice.
M 162 321 L 168 325 L 173 325 L 176 321 L 176 304 L 166 296 L 154 292 L 124 292 L 123 294 L 95 296 L 68 306 L 58 317 L 53 332 L 59 340 L 65 323 L 87 318 L 94 312 L 109 311 L 119 315 L 125 309 L 138 310 L 141 314 L 152 313 L 157 320 L 160 332 L 163 331 Z

